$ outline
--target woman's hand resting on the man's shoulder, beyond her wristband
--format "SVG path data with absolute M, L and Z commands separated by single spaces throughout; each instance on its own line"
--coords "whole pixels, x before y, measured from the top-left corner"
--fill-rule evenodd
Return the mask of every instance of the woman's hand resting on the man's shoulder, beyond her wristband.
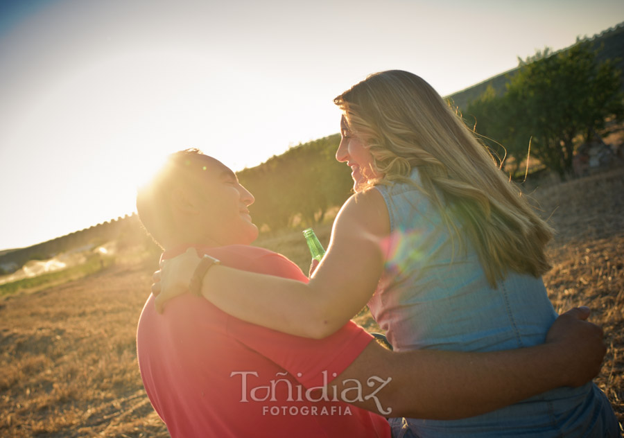
M 191 277 L 200 260 L 196 249 L 189 248 L 180 256 L 160 262 L 160 270 L 154 272 L 152 285 L 158 313 L 162 313 L 166 301 L 189 290 Z

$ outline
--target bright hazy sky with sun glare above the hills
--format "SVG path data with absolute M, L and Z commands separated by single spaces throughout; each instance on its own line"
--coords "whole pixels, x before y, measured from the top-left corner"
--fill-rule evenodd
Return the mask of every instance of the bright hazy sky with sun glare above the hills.
M 240 170 L 336 133 L 368 73 L 444 96 L 622 21 L 621 0 L 0 0 L 0 249 L 132 213 L 175 150 Z

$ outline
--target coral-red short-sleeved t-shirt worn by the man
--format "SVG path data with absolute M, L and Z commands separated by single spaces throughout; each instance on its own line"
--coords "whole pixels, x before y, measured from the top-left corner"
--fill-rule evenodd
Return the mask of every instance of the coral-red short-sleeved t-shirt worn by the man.
M 266 249 L 202 249 L 233 268 L 307 281 L 297 265 Z M 331 401 L 331 384 L 326 396 L 306 394 L 331 382 L 371 339 L 353 322 L 323 340 L 286 335 L 190 294 L 171 299 L 158 315 L 150 296 L 139 319 L 137 354 L 146 392 L 173 438 L 389 438 L 383 417 Z

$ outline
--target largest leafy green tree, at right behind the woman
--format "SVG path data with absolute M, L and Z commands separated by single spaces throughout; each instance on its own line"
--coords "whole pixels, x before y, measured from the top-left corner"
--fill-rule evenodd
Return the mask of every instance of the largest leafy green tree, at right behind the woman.
M 580 42 L 551 55 L 546 49 L 521 62 L 504 96 L 506 117 L 516 141 L 562 179 L 571 171 L 574 139 L 590 139 L 605 121 L 624 115 L 621 73 L 611 60 Z

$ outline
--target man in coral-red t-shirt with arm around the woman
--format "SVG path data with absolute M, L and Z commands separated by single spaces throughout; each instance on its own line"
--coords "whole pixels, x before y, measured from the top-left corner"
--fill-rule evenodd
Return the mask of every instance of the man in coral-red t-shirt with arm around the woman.
M 187 150 L 139 190 L 137 210 L 164 259 L 194 247 L 224 265 L 307 281 L 284 256 L 250 246 L 253 201 L 227 166 Z M 191 294 L 162 315 L 153 300 L 139 319 L 139 368 L 174 438 L 390 437 L 385 417 L 469 417 L 581 385 L 605 353 L 600 329 L 579 319 L 583 309 L 530 349 L 392 353 L 353 322 L 312 340 L 242 322 Z

